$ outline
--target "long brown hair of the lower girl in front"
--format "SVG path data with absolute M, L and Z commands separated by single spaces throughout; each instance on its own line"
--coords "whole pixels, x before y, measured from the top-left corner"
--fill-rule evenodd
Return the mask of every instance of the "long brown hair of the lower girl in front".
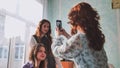
M 34 45 L 30 51 L 29 60 L 32 61 L 34 67 L 35 67 L 35 59 L 37 59 L 37 53 L 41 47 L 45 48 L 45 46 L 42 43 L 38 43 L 37 45 Z M 45 60 L 42 60 L 40 62 L 39 68 L 45 68 Z

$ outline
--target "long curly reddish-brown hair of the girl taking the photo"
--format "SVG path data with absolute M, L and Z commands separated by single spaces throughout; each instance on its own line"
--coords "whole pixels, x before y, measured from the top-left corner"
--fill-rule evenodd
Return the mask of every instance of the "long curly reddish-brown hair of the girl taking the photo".
M 85 2 L 78 3 L 74 6 L 69 15 L 71 25 L 79 25 L 86 33 L 89 41 L 89 47 L 94 50 L 101 50 L 105 42 L 105 36 L 101 31 L 99 24 L 99 15 L 91 5 Z M 76 34 L 76 30 L 71 31 Z

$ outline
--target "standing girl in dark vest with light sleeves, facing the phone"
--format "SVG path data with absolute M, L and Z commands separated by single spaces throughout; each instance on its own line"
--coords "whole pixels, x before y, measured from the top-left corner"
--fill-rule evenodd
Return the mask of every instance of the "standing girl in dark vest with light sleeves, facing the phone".
M 55 57 L 51 50 L 52 37 L 51 37 L 51 24 L 48 20 L 43 19 L 39 22 L 36 33 L 32 36 L 31 46 L 37 43 L 43 43 L 47 53 L 47 68 L 56 68 Z M 60 63 L 59 63 L 60 65 Z M 61 68 L 61 65 L 59 66 Z

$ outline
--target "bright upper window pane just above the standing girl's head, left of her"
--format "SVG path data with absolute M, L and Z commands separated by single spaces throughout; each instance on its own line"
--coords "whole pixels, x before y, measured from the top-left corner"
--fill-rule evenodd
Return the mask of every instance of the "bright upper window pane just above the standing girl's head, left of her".
M 23 18 L 38 24 L 42 13 L 43 6 L 36 0 L 20 0 L 20 16 Z

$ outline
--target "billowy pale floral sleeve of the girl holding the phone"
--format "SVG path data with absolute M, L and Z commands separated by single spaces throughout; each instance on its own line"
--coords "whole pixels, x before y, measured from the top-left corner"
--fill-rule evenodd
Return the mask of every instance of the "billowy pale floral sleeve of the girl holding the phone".
M 70 39 L 67 39 L 64 36 L 59 36 L 54 40 L 52 50 L 56 57 L 72 59 L 82 51 L 80 36 L 74 35 Z

